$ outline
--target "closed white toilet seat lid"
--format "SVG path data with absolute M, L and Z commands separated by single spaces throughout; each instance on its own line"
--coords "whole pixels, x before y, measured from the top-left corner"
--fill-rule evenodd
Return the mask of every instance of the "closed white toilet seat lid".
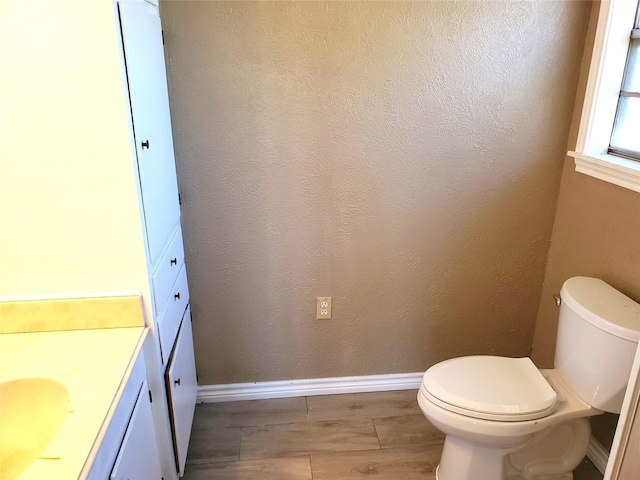
M 453 358 L 427 370 L 422 384 L 440 406 L 492 420 L 541 418 L 553 411 L 557 399 L 555 390 L 526 357 Z

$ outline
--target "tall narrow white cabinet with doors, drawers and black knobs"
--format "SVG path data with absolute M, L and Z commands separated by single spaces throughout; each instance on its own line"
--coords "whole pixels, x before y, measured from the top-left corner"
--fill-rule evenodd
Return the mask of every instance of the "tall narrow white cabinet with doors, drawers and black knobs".
M 171 440 L 178 475 L 191 435 L 197 380 L 188 308 L 189 289 L 180 229 L 162 30 L 156 7 L 118 2 L 140 192 L 144 210 L 153 316 L 160 363 L 165 372 Z M 142 420 L 141 420 L 142 421 Z M 135 432 L 142 431 L 135 429 Z M 137 440 L 134 437 L 133 443 Z M 135 450 L 134 450 L 135 451 Z M 118 475 L 135 469 L 124 456 Z M 135 454 L 132 459 L 135 461 Z M 131 478 L 142 478 L 131 470 Z M 151 477 L 145 477 L 151 478 Z

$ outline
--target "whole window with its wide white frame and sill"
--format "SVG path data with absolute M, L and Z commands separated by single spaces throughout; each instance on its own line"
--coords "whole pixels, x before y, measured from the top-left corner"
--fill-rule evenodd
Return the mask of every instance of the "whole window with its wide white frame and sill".
M 577 172 L 640 193 L 640 158 L 635 160 L 640 137 L 636 133 L 640 131 L 640 95 L 636 93 L 640 47 L 637 30 L 634 38 L 630 35 L 637 27 L 638 4 L 638 0 L 600 3 L 576 149 L 569 155 Z

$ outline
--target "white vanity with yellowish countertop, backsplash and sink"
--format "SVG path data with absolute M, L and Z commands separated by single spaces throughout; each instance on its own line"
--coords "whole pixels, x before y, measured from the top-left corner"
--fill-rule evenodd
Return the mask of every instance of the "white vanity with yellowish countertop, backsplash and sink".
M 162 478 L 141 307 L 139 296 L 0 303 L 3 479 Z

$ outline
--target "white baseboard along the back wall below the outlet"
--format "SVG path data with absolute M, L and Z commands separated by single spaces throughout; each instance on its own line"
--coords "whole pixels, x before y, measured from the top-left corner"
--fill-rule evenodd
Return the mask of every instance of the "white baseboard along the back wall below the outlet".
M 201 403 L 265 398 L 306 397 L 340 393 L 386 392 L 417 390 L 424 372 L 367 375 L 362 377 L 313 378 L 278 382 L 230 383 L 198 387 L 197 401 Z

